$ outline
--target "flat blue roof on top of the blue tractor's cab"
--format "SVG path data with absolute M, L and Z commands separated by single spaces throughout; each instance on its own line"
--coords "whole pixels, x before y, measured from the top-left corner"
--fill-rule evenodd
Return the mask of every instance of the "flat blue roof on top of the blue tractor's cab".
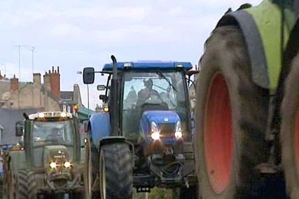
M 118 70 L 135 69 L 135 70 L 173 70 L 183 68 L 184 70 L 192 69 L 190 62 L 163 62 L 163 61 L 138 61 L 138 62 L 118 62 Z M 113 64 L 105 64 L 103 71 L 112 71 Z

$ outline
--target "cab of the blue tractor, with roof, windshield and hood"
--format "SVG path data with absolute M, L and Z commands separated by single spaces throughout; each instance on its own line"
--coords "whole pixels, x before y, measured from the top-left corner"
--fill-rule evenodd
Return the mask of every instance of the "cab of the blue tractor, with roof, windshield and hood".
M 112 68 L 112 64 L 106 64 L 103 72 L 111 75 Z M 151 140 L 169 143 L 178 139 L 189 141 L 186 71 L 190 69 L 190 63 L 118 63 L 121 88 L 119 125 L 122 135 L 133 143 Z M 110 79 L 106 88 L 109 88 Z M 106 94 L 108 96 L 109 92 Z

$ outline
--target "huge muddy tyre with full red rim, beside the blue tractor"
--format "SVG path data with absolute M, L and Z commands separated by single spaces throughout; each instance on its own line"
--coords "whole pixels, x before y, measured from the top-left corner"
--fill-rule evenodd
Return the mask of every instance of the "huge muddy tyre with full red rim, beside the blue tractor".
M 205 44 L 196 89 L 194 154 L 199 195 L 243 198 L 258 178 L 255 166 L 267 160 L 264 133 L 269 97 L 252 81 L 240 29 L 224 26 L 213 31 Z

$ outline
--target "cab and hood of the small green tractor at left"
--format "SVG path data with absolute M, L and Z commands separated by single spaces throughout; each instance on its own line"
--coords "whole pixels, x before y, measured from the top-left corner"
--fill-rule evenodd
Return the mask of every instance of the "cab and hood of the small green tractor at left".
M 80 153 L 77 152 L 79 137 L 76 128 L 70 113 L 39 112 L 28 115 L 24 148 L 28 149 L 27 154 L 33 160 L 32 166 L 63 168 L 65 164 L 68 166 L 77 160 Z

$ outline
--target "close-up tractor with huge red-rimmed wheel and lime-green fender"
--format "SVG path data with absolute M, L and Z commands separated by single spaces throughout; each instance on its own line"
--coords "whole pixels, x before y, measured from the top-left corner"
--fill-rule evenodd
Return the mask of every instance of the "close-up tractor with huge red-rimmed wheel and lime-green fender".
M 299 199 L 298 16 L 299 0 L 244 4 L 207 39 L 195 114 L 202 199 Z

